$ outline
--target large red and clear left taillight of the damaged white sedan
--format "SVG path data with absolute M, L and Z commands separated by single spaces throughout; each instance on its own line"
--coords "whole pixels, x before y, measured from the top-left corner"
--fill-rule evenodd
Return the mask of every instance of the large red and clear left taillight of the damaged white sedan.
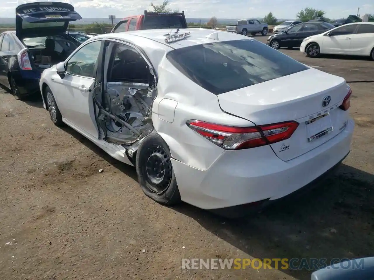
M 286 140 L 294 133 L 299 123 L 295 121 L 255 127 L 231 127 L 203 121 L 187 121 L 188 127 L 226 150 L 260 147 Z

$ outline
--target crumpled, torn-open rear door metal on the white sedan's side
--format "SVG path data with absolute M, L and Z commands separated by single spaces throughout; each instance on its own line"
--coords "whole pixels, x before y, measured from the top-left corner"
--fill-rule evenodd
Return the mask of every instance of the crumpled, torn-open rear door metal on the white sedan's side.
M 151 107 L 156 95 L 149 84 L 106 83 L 103 98 L 95 96 L 96 100 L 103 99 L 96 118 L 101 128 L 99 139 L 130 145 L 147 136 L 153 130 Z

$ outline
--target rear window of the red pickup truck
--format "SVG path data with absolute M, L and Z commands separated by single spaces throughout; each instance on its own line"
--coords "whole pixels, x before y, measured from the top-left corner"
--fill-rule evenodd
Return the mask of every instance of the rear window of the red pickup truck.
M 149 15 L 144 18 L 142 29 L 186 28 L 181 15 Z

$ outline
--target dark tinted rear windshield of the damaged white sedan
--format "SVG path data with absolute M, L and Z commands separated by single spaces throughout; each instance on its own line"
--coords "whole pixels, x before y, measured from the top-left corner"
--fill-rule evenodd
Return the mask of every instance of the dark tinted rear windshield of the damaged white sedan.
M 166 57 L 186 77 L 214 94 L 270 81 L 308 68 L 257 40 L 200 44 Z

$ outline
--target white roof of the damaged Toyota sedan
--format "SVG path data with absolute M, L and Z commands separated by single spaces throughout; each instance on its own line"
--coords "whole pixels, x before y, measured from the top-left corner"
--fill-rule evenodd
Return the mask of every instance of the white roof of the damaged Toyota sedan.
M 110 34 L 101 34 L 93 38 L 113 38 L 119 40 L 131 40 L 136 41 L 136 38 L 142 37 L 158 43 L 168 45 L 171 48 L 179 49 L 182 47 L 194 46 L 205 43 L 217 42 L 217 40 L 207 38 L 206 36 L 211 35 L 212 33 L 218 34 L 218 41 L 232 41 L 232 40 L 253 40 L 250 37 L 241 36 L 239 34 L 233 34 L 226 31 L 212 30 L 212 29 L 202 29 L 202 28 L 186 28 L 180 29 L 179 34 L 184 32 L 190 32 L 186 38 L 180 41 L 175 41 L 171 43 L 165 43 L 166 34 L 170 32 L 174 33 L 177 29 L 147 29 L 147 30 L 136 30 L 136 31 L 127 31 L 127 32 L 118 32 Z M 92 39 L 93 39 L 92 38 Z

